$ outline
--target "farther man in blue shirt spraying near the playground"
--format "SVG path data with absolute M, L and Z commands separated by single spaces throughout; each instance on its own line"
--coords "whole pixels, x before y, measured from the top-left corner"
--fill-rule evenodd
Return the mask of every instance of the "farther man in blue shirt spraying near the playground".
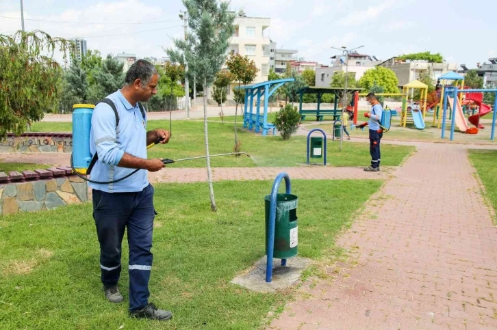
M 380 170 L 380 141 L 383 137 L 383 129 L 380 126 L 381 114 L 383 113 L 383 108 L 378 102 L 377 96 L 374 93 L 370 93 L 366 96 L 366 100 L 371 105 L 371 113 L 364 113 L 364 117 L 369 118 L 368 122 L 360 124 L 358 128 L 364 128 L 369 126 L 369 141 L 370 141 L 370 154 L 371 154 L 371 165 L 364 168 L 364 171 L 377 172 Z

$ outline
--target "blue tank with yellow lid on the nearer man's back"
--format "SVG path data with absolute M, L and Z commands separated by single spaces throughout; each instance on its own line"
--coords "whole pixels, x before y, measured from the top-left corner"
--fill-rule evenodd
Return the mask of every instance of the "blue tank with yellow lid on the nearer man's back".
M 79 174 L 86 174 L 92 161 L 90 130 L 94 105 L 73 105 L 73 165 Z

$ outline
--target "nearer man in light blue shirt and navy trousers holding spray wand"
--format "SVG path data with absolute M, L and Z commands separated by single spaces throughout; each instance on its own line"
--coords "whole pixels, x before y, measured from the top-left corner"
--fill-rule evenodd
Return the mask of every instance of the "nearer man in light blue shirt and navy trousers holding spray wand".
M 161 139 L 167 143 L 170 132 L 146 130 L 147 116 L 140 102 L 157 94 L 159 74 L 148 61 L 138 60 L 127 71 L 122 89 L 100 102 L 92 115 L 90 151 L 99 160 L 92 170 L 98 181 L 114 180 L 140 169 L 133 176 L 112 184 L 90 183 L 93 189 L 93 217 L 100 243 L 101 281 L 105 298 L 123 301 L 118 281 L 121 271 L 121 243 L 127 229 L 129 245 L 129 314 L 135 318 L 170 320 L 170 311 L 149 302 L 149 279 L 153 255 L 152 231 L 156 215 L 154 189 L 149 171 L 159 171 L 162 159 L 148 159 L 146 146 Z M 114 107 L 113 107 L 114 106 Z M 114 108 L 114 109 L 113 109 Z M 115 111 L 115 112 L 114 112 Z

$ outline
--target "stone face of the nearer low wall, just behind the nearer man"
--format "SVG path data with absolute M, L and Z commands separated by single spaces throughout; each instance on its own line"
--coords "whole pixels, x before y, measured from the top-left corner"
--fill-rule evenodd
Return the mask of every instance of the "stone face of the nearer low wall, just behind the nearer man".
M 51 210 L 88 201 L 88 184 L 77 176 L 0 184 L 0 214 Z

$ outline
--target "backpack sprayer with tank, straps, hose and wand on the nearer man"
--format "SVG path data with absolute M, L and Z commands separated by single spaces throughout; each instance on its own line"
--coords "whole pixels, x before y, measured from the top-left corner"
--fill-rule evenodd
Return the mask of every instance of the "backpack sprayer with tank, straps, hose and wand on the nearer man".
M 110 105 L 109 102 L 106 101 L 106 99 L 102 100 L 101 102 L 105 102 L 108 105 Z M 112 101 L 110 101 L 112 102 Z M 98 104 L 98 103 L 97 103 Z M 140 106 L 140 111 L 142 111 L 142 115 L 144 117 L 144 111 L 142 108 L 142 105 L 139 103 Z M 114 110 L 114 113 L 116 113 L 116 126 L 119 122 L 118 120 L 118 115 L 117 111 L 115 109 L 114 103 L 110 105 L 112 109 Z M 125 180 L 135 174 L 136 172 L 140 171 L 140 169 L 136 169 L 135 171 L 132 171 L 130 174 L 127 174 L 127 176 L 123 176 L 123 178 L 119 178 L 113 181 L 94 181 L 86 178 L 83 175 L 90 175 L 93 165 L 97 163 L 98 160 L 98 154 L 95 153 L 94 156 L 92 156 L 90 152 L 90 130 L 92 128 L 92 114 L 93 114 L 93 109 L 94 105 L 74 105 L 73 106 L 73 152 L 71 152 L 71 169 L 73 169 L 74 173 L 79 176 L 79 178 L 92 182 L 92 183 L 97 183 L 97 184 L 111 184 L 111 183 L 116 183 L 122 180 Z M 171 122 L 169 121 L 169 130 L 171 130 Z M 146 146 L 147 149 L 155 146 L 156 144 L 160 143 L 162 141 L 162 138 L 156 139 L 153 143 L 149 144 L 149 146 Z M 209 156 L 196 156 L 196 157 L 188 157 L 188 158 L 183 158 L 183 159 L 162 159 L 162 163 L 164 164 L 172 164 L 172 163 L 177 163 L 179 161 L 191 161 L 193 159 L 206 159 L 206 158 L 212 158 L 212 157 L 219 157 L 219 156 L 231 156 L 231 155 L 237 155 L 237 154 L 244 154 L 246 156 L 249 156 L 246 152 L 229 152 L 227 154 L 212 154 Z

